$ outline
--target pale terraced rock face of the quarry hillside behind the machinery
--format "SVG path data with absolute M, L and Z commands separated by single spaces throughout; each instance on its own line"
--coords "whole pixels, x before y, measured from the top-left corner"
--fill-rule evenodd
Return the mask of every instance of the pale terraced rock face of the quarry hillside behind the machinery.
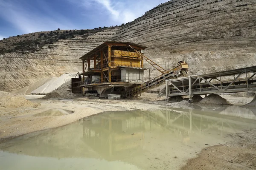
M 172 0 L 125 26 L 59 40 L 35 53 L 0 55 L 0 90 L 14 91 L 37 79 L 81 72 L 79 57 L 106 40 L 145 45 L 145 55 L 166 69 L 185 60 L 190 74 L 252 66 L 255 18 L 255 0 Z M 147 63 L 145 67 L 151 68 Z

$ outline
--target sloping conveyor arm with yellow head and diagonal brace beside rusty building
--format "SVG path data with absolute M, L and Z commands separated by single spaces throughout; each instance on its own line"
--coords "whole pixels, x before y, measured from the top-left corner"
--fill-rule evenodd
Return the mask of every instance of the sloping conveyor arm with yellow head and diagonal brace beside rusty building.
M 131 46 L 130 46 L 131 47 Z M 132 47 L 131 47 L 132 48 Z M 136 49 L 132 48 L 137 54 L 139 54 L 143 59 L 145 59 L 150 65 L 152 65 L 155 69 L 162 73 L 160 76 L 155 77 L 154 79 L 145 82 L 141 85 L 138 85 L 134 88 L 131 88 L 128 92 L 128 96 L 138 96 L 139 94 L 148 91 L 151 88 L 156 88 L 163 83 L 165 83 L 166 79 L 173 79 L 180 76 L 187 77 L 188 74 L 188 64 L 185 61 L 180 61 L 174 66 L 171 70 L 166 70 L 162 68 L 160 65 L 146 57 L 144 54 L 140 53 Z

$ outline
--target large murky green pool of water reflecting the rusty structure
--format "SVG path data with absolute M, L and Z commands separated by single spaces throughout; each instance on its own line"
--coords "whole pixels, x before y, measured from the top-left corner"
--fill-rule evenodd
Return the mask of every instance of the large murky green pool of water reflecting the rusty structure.
M 236 106 L 107 112 L 1 143 L 0 169 L 175 170 L 250 128 L 255 111 Z

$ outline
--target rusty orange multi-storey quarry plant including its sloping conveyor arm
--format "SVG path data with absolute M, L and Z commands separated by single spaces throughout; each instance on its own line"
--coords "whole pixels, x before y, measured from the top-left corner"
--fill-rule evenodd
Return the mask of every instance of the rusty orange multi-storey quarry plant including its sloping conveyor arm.
M 73 79 L 72 89 L 86 96 L 108 97 L 110 94 L 137 96 L 149 88 L 161 85 L 166 79 L 186 75 L 188 65 L 179 62 L 171 70 L 166 70 L 143 54 L 145 46 L 131 42 L 106 41 L 80 59 L 83 71 L 80 79 Z M 151 68 L 144 68 L 144 60 L 161 75 L 151 79 Z M 149 77 L 144 71 L 149 70 Z

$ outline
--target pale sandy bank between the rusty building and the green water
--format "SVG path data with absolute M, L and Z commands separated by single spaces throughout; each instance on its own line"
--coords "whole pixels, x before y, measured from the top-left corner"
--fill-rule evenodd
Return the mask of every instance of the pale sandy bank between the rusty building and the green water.
M 12 94 L 8 94 L 12 95 Z M 146 101 L 153 100 L 157 94 L 143 94 Z M 33 97 L 33 96 L 32 96 Z M 38 96 L 41 98 L 41 96 Z M 23 98 L 25 100 L 25 98 Z M 12 136 L 20 136 L 39 130 L 60 127 L 81 118 L 102 113 L 105 111 L 125 111 L 132 109 L 152 110 L 160 108 L 160 105 L 151 105 L 147 102 L 134 99 L 108 100 L 87 99 L 85 97 L 71 99 L 33 99 L 26 100 L 32 105 L 19 108 L 4 108 L 0 106 L 0 139 Z M 34 106 L 38 106 L 35 108 Z M 51 109 L 64 109 L 73 111 L 72 114 L 62 116 L 34 116 Z

